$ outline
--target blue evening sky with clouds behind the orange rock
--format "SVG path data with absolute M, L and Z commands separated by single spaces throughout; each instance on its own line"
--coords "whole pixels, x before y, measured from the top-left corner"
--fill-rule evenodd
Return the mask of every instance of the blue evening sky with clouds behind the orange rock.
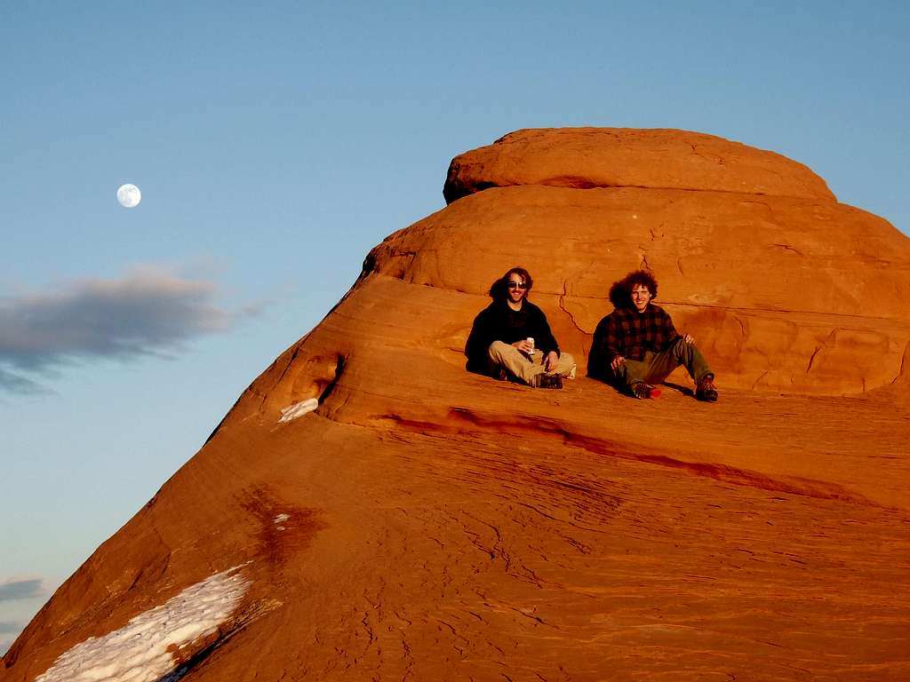
M 454 155 L 695 130 L 910 234 L 908 7 L 0 0 L 0 652 Z

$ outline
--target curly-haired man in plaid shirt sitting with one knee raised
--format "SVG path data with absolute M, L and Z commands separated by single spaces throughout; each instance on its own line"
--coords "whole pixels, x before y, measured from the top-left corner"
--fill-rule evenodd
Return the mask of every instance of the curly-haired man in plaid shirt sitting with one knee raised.
M 656 296 L 657 281 L 644 270 L 629 273 L 611 287 L 615 310 L 594 331 L 588 375 L 637 398 L 652 398 L 661 395 L 652 384 L 683 365 L 695 380 L 695 397 L 716 401 L 711 367 L 693 337 L 680 336 L 670 316 L 652 303 Z

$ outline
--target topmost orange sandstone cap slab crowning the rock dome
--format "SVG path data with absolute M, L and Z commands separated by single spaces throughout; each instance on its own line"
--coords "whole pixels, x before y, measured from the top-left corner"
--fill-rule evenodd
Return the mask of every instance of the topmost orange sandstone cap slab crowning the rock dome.
M 489 187 L 643 187 L 835 201 L 802 164 L 723 137 L 685 130 L 531 129 L 452 159 L 451 203 Z

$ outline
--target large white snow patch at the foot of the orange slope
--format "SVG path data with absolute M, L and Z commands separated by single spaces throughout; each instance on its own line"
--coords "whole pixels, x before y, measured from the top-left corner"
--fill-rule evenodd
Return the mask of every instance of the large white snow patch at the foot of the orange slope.
M 104 637 L 89 637 L 57 658 L 35 682 L 160 680 L 177 665 L 167 647 L 186 647 L 211 635 L 238 607 L 249 586 L 238 568 L 187 587 Z

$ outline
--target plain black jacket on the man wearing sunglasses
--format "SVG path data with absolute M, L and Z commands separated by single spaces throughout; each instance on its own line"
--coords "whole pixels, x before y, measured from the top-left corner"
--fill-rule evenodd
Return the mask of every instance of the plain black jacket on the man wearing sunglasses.
M 534 347 L 546 356 L 550 351 L 560 354 L 560 346 L 553 338 L 547 316 L 527 300 L 521 302 L 521 310 L 512 310 L 505 301 L 493 301 L 474 318 L 464 354 L 468 356 L 471 372 L 487 374 L 487 349 L 493 341 L 513 344 L 531 336 Z

